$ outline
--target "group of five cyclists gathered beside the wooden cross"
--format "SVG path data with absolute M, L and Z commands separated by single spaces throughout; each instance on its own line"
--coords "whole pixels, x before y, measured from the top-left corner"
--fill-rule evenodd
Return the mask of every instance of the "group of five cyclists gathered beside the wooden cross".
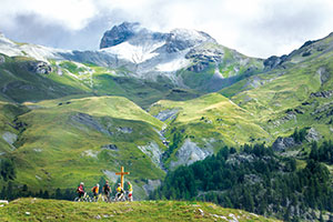
M 92 193 L 93 193 L 93 198 L 98 199 L 99 196 L 99 191 L 100 191 L 100 184 L 95 184 L 95 186 L 93 186 L 91 189 Z M 78 186 L 77 189 L 77 192 L 78 192 L 78 195 L 79 195 L 79 199 L 81 199 L 82 196 L 84 198 L 85 196 L 85 191 L 84 191 L 84 183 L 81 182 L 80 185 Z M 105 184 L 103 185 L 103 189 L 102 189 L 102 194 L 104 195 L 105 200 L 110 200 L 110 196 L 111 196 L 111 186 L 109 184 L 109 181 L 105 181 Z M 121 200 L 122 198 L 124 198 L 124 190 L 123 188 L 121 186 L 120 183 L 118 183 L 118 186 L 115 188 L 115 199 L 117 200 Z M 128 200 L 129 201 L 133 201 L 133 186 L 132 186 L 132 183 L 128 182 Z

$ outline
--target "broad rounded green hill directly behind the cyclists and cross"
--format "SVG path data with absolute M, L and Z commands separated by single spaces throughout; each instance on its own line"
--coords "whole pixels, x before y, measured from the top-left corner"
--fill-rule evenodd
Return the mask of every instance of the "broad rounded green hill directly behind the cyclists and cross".
M 157 133 L 162 122 L 128 99 L 93 97 L 26 104 L 32 110 L 19 117 L 27 127 L 11 152 L 18 168 L 16 182 L 33 190 L 75 188 L 80 181 L 92 186 L 107 178 L 105 171 L 118 172 L 121 165 L 140 186 L 164 175 L 138 149 L 152 141 L 163 149 Z M 108 144 L 117 150 L 103 148 Z

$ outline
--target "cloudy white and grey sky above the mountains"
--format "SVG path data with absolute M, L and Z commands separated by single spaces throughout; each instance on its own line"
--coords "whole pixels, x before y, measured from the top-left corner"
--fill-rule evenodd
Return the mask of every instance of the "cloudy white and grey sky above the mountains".
M 0 32 L 54 48 L 94 50 L 123 21 L 205 31 L 246 56 L 290 53 L 333 32 L 332 0 L 0 0 Z

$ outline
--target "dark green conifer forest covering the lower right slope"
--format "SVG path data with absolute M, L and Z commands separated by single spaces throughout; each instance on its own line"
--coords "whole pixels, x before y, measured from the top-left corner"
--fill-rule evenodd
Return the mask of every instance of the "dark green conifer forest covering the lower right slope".
M 151 198 L 211 201 L 285 221 L 312 219 L 310 209 L 333 212 L 332 181 L 324 164 L 332 164 L 332 142 L 320 148 L 313 143 L 303 168 L 264 144 L 245 144 L 240 151 L 225 147 L 169 172 Z

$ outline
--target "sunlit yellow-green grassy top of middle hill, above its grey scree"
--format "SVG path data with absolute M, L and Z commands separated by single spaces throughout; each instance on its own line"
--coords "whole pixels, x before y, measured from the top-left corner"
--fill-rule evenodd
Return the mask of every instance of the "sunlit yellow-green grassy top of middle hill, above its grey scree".
M 157 115 L 165 110 L 176 111 L 175 119 L 167 120 L 169 129 L 185 129 L 184 134 L 193 141 L 213 137 L 234 145 L 250 142 L 250 138 L 268 137 L 251 113 L 218 93 L 188 101 L 162 100 L 150 108 L 150 113 Z

